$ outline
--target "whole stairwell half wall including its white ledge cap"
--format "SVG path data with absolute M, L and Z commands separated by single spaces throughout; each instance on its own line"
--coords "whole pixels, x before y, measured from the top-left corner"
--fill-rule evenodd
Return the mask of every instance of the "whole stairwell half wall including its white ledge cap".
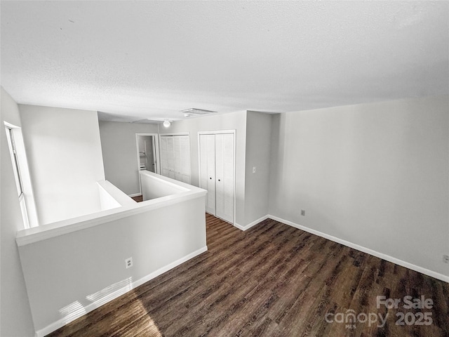
M 154 173 L 146 178 L 146 188 L 162 195 L 130 202 L 121 190 L 102 182 L 103 206 L 112 208 L 18 233 L 38 336 L 72 322 L 79 317 L 76 310 L 98 308 L 206 251 L 206 190 Z M 123 263 L 129 257 L 132 268 Z M 63 291 L 55 291 L 61 284 Z

